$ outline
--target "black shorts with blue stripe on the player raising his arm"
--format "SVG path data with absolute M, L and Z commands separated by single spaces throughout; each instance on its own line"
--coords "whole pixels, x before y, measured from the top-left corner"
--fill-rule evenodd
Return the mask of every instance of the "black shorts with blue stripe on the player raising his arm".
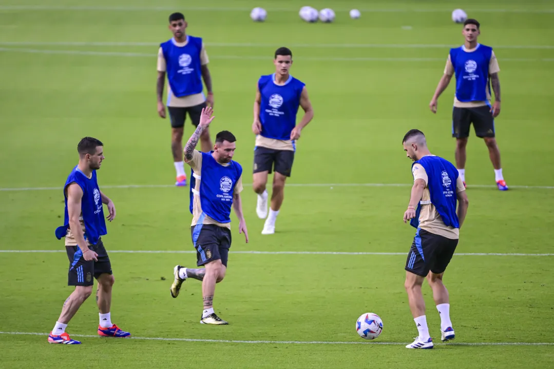
M 214 260 L 221 260 L 227 267 L 231 230 L 215 224 L 197 224 L 191 227 L 192 243 L 196 248 L 196 265 L 203 266 Z

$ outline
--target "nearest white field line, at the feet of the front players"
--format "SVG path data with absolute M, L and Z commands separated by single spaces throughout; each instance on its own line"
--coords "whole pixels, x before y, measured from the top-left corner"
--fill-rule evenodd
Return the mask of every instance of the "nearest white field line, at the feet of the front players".
M 39 332 L 3 332 L 5 335 L 26 335 L 26 336 L 44 336 L 48 333 Z M 84 338 L 102 338 L 98 335 L 72 334 L 71 337 Z M 168 338 L 168 337 L 129 337 L 133 340 L 148 341 L 181 341 L 181 342 L 213 342 L 222 344 L 285 344 L 285 345 L 407 345 L 410 342 L 386 342 L 386 341 L 245 341 L 245 340 L 209 340 L 194 338 Z M 443 344 L 440 342 L 435 345 L 441 346 L 552 346 L 554 342 L 453 342 Z

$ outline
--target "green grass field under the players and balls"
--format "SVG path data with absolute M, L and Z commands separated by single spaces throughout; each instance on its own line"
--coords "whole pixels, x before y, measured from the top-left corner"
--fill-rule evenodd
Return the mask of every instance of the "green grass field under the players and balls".
M 0 367 L 554 366 L 553 4 L 309 4 L 335 9 L 334 24 L 302 22 L 304 5 L 0 0 L 0 250 L 11 250 L 0 252 Z M 255 6 L 268 10 L 265 23 L 249 19 Z M 511 189 L 496 190 L 488 151 L 472 129 L 469 213 L 445 276 L 456 341 L 414 352 L 404 349 L 417 330 L 403 287 L 414 229 L 402 222 L 412 175 L 401 139 L 419 128 L 434 154 L 454 160 L 453 84 L 437 115 L 428 103 L 449 46 L 463 41 L 450 19 L 460 7 L 481 22 L 480 42 L 494 46 L 499 60 L 496 132 Z M 362 18 L 350 19 L 351 8 Z M 214 301 L 229 326 L 198 323 L 198 281 L 188 280 L 177 299 L 169 292 L 173 266 L 196 262 L 188 188 L 173 186 L 170 124 L 156 113 L 156 52 L 170 38 L 172 11 L 182 11 L 188 33 L 206 42 L 216 99 L 211 129 L 235 133 L 235 159 L 245 168 L 250 243 L 233 215 L 228 274 Z M 306 82 L 315 119 L 297 143 L 277 232 L 262 236 L 248 185 L 252 105 L 255 83 L 273 72 L 273 51 L 282 45 L 293 50 L 291 73 Z M 135 339 L 96 337 L 90 298 L 68 326 L 83 345 L 48 345 L 71 291 L 63 241 L 54 236 L 63 221 L 60 188 L 84 136 L 105 144 L 99 181 L 117 207 L 104 237 L 116 279 L 112 320 Z M 427 285 L 424 294 L 440 342 Z M 383 319 L 375 342 L 355 331 L 368 311 Z

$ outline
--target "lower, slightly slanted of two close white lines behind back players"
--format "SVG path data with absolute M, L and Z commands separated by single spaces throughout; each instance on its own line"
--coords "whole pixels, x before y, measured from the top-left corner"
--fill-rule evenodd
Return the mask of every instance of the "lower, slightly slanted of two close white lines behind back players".
M 125 56 L 127 58 L 156 58 L 156 53 L 121 53 L 119 51 L 81 51 L 81 50 L 48 50 L 48 49 L 23 49 L 23 48 L 0 48 L 4 53 L 27 53 L 27 54 L 62 54 L 62 55 L 93 55 L 93 56 Z M 211 55 L 210 59 L 223 60 L 271 60 L 267 55 Z M 444 61 L 445 58 L 342 58 L 336 56 L 301 56 L 301 60 L 311 61 Z M 502 61 L 554 61 L 554 58 L 504 58 Z

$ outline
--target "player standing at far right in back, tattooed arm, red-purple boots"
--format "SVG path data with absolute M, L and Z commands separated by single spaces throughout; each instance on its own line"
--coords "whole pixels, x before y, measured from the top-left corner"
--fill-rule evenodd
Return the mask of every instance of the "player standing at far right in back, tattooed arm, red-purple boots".
M 493 48 L 477 42 L 479 22 L 467 19 L 462 34 L 465 44 L 450 49 L 444 75 L 439 81 L 429 108 L 437 113 L 437 100 L 456 75 L 456 92 L 452 112 L 452 137 L 456 138 L 456 167 L 465 186 L 465 147 L 468 144 L 469 126 L 473 123 L 477 137 L 483 138 L 489 148 L 489 157 L 494 167 L 496 186 L 506 191 L 508 186 L 502 176 L 500 150 L 496 144 L 494 118 L 500 114 L 500 67 Z M 491 106 L 490 85 L 495 96 Z

